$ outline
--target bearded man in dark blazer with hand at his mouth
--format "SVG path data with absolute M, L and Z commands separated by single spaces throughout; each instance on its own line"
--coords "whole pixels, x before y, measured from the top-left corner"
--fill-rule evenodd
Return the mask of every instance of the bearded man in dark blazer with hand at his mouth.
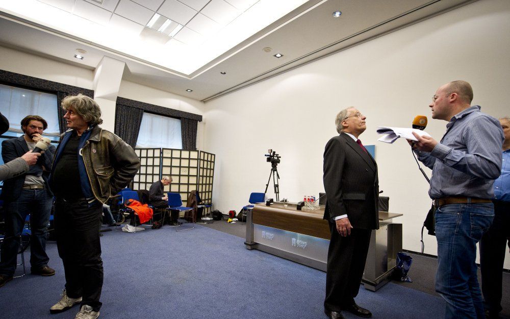
M 48 127 L 44 118 L 29 115 L 21 120 L 24 135 L 2 142 L 2 158 L 8 163 L 34 150 Z M 12 279 L 16 269 L 16 254 L 19 248 L 18 234 L 23 230 L 25 217 L 31 214 L 30 264 L 35 275 L 53 276 L 55 270 L 48 266 L 46 233 L 49 214 L 53 205 L 53 193 L 48 187 L 48 174 L 52 168 L 55 146 L 49 145 L 37 163 L 26 174 L 4 182 L 2 199 L 5 202 L 6 238 L 0 253 L 0 287 Z

